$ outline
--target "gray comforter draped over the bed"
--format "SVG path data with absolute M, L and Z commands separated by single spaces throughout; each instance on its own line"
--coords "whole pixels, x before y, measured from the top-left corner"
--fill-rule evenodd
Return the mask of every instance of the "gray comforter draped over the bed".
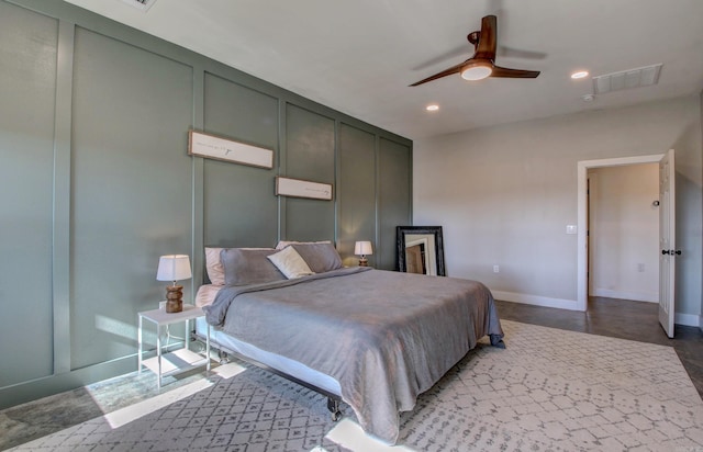
M 205 312 L 225 332 L 336 378 L 364 430 L 389 443 L 399 411 L 478 339 L 503 336 L 483 284 L 369 268 L 225 287 Z

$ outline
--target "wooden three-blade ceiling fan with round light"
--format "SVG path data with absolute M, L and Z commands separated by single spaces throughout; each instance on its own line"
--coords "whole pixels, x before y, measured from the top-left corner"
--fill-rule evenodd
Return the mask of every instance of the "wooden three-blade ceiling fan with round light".
M 487 15 L 481 20 L 481 31 L 469 33 L 467 39 L 473 44 L 473 56 L 466 61 L 445 69 L 439 74 L 420 80 L 411 87 L 437 80 L 439 78 L 460 74 L 466 80 L 481 80 L 487 77 L 520 78 L 534 79 L 539 75 L 538 70 L 510 69 L 495 66 L 495 31 L 498 29 L 498 19 L 495 15 Z

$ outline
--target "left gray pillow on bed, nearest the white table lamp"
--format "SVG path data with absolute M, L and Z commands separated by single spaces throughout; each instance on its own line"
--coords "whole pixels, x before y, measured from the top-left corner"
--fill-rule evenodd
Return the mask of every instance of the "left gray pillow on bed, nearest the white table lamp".
M 224 248 L 220 260 L 224 267 L 225 285 L 260 284 L 286 280 L 267 256 L 275 249 Z

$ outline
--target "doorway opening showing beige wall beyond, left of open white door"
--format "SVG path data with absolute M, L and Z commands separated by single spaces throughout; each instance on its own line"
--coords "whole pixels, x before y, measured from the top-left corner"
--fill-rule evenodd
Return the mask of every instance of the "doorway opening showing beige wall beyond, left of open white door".
M 587 194 L 588 296 L 658 303 L 659 166 L 591 168 Z

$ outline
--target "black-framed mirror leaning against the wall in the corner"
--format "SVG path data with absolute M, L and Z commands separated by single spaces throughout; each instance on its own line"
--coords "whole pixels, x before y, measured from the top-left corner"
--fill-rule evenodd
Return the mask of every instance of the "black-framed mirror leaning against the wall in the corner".
M 395 227 L 398 270 L 446 276 L 442 226 Z

